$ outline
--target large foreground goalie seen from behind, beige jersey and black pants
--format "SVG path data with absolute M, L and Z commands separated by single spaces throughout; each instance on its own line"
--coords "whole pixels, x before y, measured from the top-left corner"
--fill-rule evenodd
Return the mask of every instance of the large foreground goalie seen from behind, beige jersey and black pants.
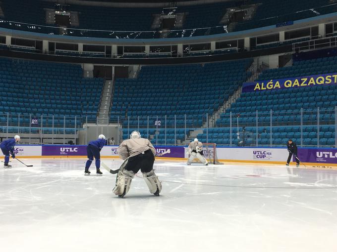
M 119 168 L 116 185 L 112 192 L 123 198 L 130 189 L 131 180 L 141 170 L 150 193 L 159 196 L 162 183 L 153 170 L 156 149 L 148 139 L 141 138 L 138 131 L 133 131 L 130 139 L 124 140 L 117 149 L 118 155 L 124 160 Z

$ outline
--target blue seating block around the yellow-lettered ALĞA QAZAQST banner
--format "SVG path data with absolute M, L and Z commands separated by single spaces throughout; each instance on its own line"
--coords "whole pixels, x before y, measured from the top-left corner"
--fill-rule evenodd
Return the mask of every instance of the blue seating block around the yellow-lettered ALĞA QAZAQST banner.
M 256 80 L 277 80 L 282 78 L 328 74 L 336 72 L 337 56 L 322 57 L 293 62 L 292 66 L 267 69 Z M 268 90 L 259 93 L 246 92 L 236 99 L 216 121 L 216 126 L 208 131 L 209 142 L 228 145 L 236 138 L 236 127 L 230 135 L 230 112 L 232 126 L 237 120 L 239 127 L 245 126 L 252 136 L 246 145 L 282 146 L 289 138 L 303 146 L 335 146 L 337 88 L 335 85 L 318 85 L 310 89 Z M 301 112 L 301 108 L 303 111 Z M 272 110 L 272 116 L 270 114 Z M 318 111 L 319 110 L 319 111 Z M 258 128 L 256 115 L 258 111 Z M 301 127 L 302 115 L 302 134 Z M 319 113 L 319 114 L 318 114 Z M 237 119 L 235 115 L 239 114 Z M 234 116 L 233 116 L 234 115 Z M 319 116 L 319 124 L 318 124 Z M 272 129 L 269 127 L 272 121 Z M 206 139 L 206 130 L 198 135 L 201 141 Z

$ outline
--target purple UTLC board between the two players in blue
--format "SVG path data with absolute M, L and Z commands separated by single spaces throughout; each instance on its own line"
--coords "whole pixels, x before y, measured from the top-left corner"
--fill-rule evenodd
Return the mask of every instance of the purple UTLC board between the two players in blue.
M 86 145 L 43 145 L 42 156 L 87 156 Z

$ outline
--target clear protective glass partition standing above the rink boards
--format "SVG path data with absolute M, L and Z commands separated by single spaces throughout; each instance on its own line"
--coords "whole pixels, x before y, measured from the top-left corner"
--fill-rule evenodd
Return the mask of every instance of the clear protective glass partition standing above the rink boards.
M 218 113 L 218 112 L 217 112 Z M 218 114 L 114 115 L 110 123 L 120 126 L 119 139 L 133 130 L 154 145 L 187 145 L 193 138 L 218 146 L 284 146 L 293 139 L 298 146 L 336 147 L 337 109 L 224 112 Z M 59 116 L 0 113 L 0 138 L 22 135 L 23 143 L 77 143 L 84 125 L 98 124 L 96 115 Z

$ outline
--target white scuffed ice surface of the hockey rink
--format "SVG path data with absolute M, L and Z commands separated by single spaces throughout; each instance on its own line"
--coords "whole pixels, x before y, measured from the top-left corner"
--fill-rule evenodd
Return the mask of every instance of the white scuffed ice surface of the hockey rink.
M 138 173 L 120 199 L 85 159 L 22 161 L 0 168 L 2 252 L 337 250 L 337 170 L 157 160 L 161 196 Z

